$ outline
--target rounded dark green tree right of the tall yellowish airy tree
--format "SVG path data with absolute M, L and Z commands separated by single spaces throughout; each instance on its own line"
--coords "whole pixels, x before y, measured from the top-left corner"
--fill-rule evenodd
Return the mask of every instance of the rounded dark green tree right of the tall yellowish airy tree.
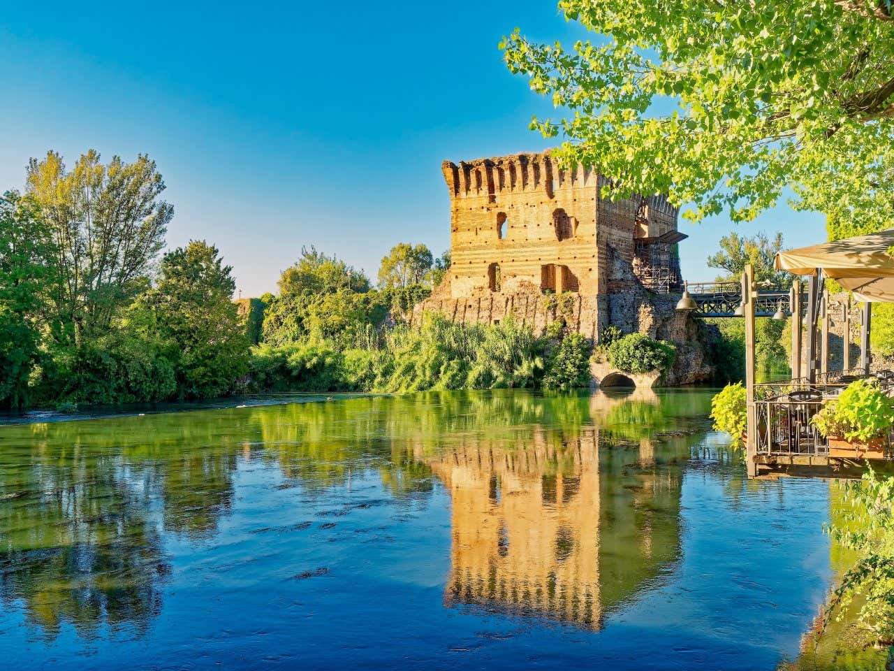
M 232 302 L 232 267 L 219 254 L 205 241 L 169 251 L 156 286 L 142 299 L 148 330 L 163 340 L 183 397 L 226 394 L 248 366 L 249 339 Z

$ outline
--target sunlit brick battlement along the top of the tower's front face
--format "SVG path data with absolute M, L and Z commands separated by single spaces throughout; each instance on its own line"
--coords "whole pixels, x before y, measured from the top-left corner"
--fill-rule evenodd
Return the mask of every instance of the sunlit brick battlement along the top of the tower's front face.
M 504 191 L 542 191 L 549 198 L 556 189 L 602 186 L 602 176 L 595 168 L 578 166 L 575 170 L 559 167 L 548 152 L 511 154 L 504 157 L 477 158 L 456 165 L 444 161 L 441 169 L 451 198 L 488 196 L 495 200 Z

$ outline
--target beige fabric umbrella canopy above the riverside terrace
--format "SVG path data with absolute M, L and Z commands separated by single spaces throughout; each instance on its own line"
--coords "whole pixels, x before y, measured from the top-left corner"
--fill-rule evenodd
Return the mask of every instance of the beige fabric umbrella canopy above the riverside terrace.
M 894 302 L 894 228 L 880 233 L 823 242 L 798 250 L 780 251 L 776 269 L 795 275 L 817 270 L 854 293 L 857 301 Z

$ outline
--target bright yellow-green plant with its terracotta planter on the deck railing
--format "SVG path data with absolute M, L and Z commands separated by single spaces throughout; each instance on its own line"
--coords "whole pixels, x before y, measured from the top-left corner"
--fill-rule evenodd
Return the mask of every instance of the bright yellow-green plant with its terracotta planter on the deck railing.
M 858 379 L 811 420 L 829 441 L 830 456 L 884 456 L 894 427 L 894 404 L 877 384 Z

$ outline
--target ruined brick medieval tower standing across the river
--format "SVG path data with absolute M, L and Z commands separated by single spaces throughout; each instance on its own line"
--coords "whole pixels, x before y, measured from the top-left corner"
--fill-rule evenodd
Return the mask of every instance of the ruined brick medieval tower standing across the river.
M 688 369 L 675 366 L 665 382 L 710 375 L 703 348 L 686 356 L 697 327 L 674 310 L 687 236 L 664 196 L 603 198 L 603 174 L 561 168 L 549 152 L 444 161 L 442 170 L 451 268 L 417 316 L 493 324 L 511 315 L 537 333 L 561 319 L 594 343 L 614 325 L 678 344 Z

